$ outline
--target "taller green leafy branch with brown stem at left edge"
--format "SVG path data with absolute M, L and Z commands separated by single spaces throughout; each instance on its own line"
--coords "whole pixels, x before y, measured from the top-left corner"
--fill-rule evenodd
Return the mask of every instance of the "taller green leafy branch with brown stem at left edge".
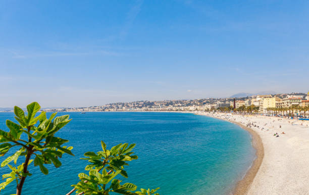
M 40 105 L 36 102 L 27 106 L 27 115 L 25 115 L 21 108 L 15 106 L 15 119 L 19 124 L 7 120 L 6 124 L 10 131 L 0 130 L 0 142 L 2 143 L 0 145 L 0 155 L 4 156 L 13 147 L 17 148 L 15 154 L 9 156 L 1 163 L 1 167 L 8 166 L 12 172 L 3 175 L 3 179 L 6 179 L 6 181 L 0 184 L 0 190 L 5 189 L 9 183 L 16 180 L 16 194 L 21 194 L 26 177 L 32 175 L 28 171 L 28 166 L 32 161 L 34 161 L 34 166 L 39 166 L 42 173 L 48 174 L 44 164 L 53 163 L 55 167 L 60 167 L 61 162 L 59 158 L 64 153 L 73 155 L 71 153 L 72 147 L 62 146 L 68 140 L 54 136 L 57 131 L 70 122 L 69 115 L 54 119 L 56 113 L 53 113 L 47 119 L 46 113 L 41 112 L 35 117 L 39 110 Z M 53 119 L 54 121 L 52 121 Z M 35 126 L 37 123 L 39 124 Z M 24 140 L 21 137 L 28 137 L 28 140 Z M 12 161 L 16 164 L 20 156 L 25 156 L 24 163 L 17 167 L 9 164 Z M 31 159 L 31 157 L 34 157 L 34 159 Z

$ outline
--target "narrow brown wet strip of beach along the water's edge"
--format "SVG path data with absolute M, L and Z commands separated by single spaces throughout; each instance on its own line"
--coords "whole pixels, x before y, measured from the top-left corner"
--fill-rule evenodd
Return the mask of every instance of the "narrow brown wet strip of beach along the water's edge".
M 193 113 L 193 114 L 196 114 L 196 113 Z M 241 123 L 238 123 L 238 122 L 235 122 L 235 121 L 230 121 L 230 120 L 222 119 L 222 118 L 215 117 L 215 116 L 209 116 L 209 115 L 205 115 L 205 114 L 198 114 L 198 115 L 208 116 L 208 117 L 212 117 L 212 118 L 216 118 L 216 119 L 220 119 L 220 120 L 224 120 L 224 121 L 227 121 L 227 122 L 234 123 L 234 124 L 240 126 L 242 129 L 248 131 L 251 134 L 251 137 L 252 137 L 251 143 L 252 143 L 252 147 L 256 151 L 255 152 L 256 158 L 252 162 L 251 167 L 246 172 L 244 177 L 237 182 L 236 186 L 232 190 L 233 194 L 237 194 L 237 195 L 238 194 L 239 195 L 246 194 L 249 190 L 251 183 L 253 182 L 255 175 L 258 173 L 258 171 L 259 171 L 259 169 L 262 165 L 263 158 L 264 158 L 264 146 L 263 146 L 263 142 L 262 142 L 260 135 L 258 133 L 256 133 L 253 129 L 246 127 L 246 126 L 242 125 Z

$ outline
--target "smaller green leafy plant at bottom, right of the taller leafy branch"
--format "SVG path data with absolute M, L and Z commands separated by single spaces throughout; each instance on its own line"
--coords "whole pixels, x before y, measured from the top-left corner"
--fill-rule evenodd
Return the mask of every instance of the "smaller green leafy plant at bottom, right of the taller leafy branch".
M 89 174 L 80 173 L 78 182 L 75 187 L 76 193 L 84 194 L 109 194 L 109 192 L 116 192 L 120 194 L 159 194 L 155 193 L 159 188 L 141 191 L 135 191 L 137 186 L 133 183 L 121 184 L 121 181 L 114 179 L 116 175 L 121 174 L 123 177 L 128 177 L 124 167 L 128 164 L 126 162 L 137 159 L 133 155 L 132 149 L 135 144 L 120 143 L 114 146 L 111 150 L 106 149 L 106 144 L 101 141 L 102 151 L 87 152 L 84 154 L 90 164 L 85 167 Z M 100 173 L 101 172 L 101 173 Z M 107 186 L 109 184 L 109 186 Z M 135 192 L 133 192 L 135 191 Z

